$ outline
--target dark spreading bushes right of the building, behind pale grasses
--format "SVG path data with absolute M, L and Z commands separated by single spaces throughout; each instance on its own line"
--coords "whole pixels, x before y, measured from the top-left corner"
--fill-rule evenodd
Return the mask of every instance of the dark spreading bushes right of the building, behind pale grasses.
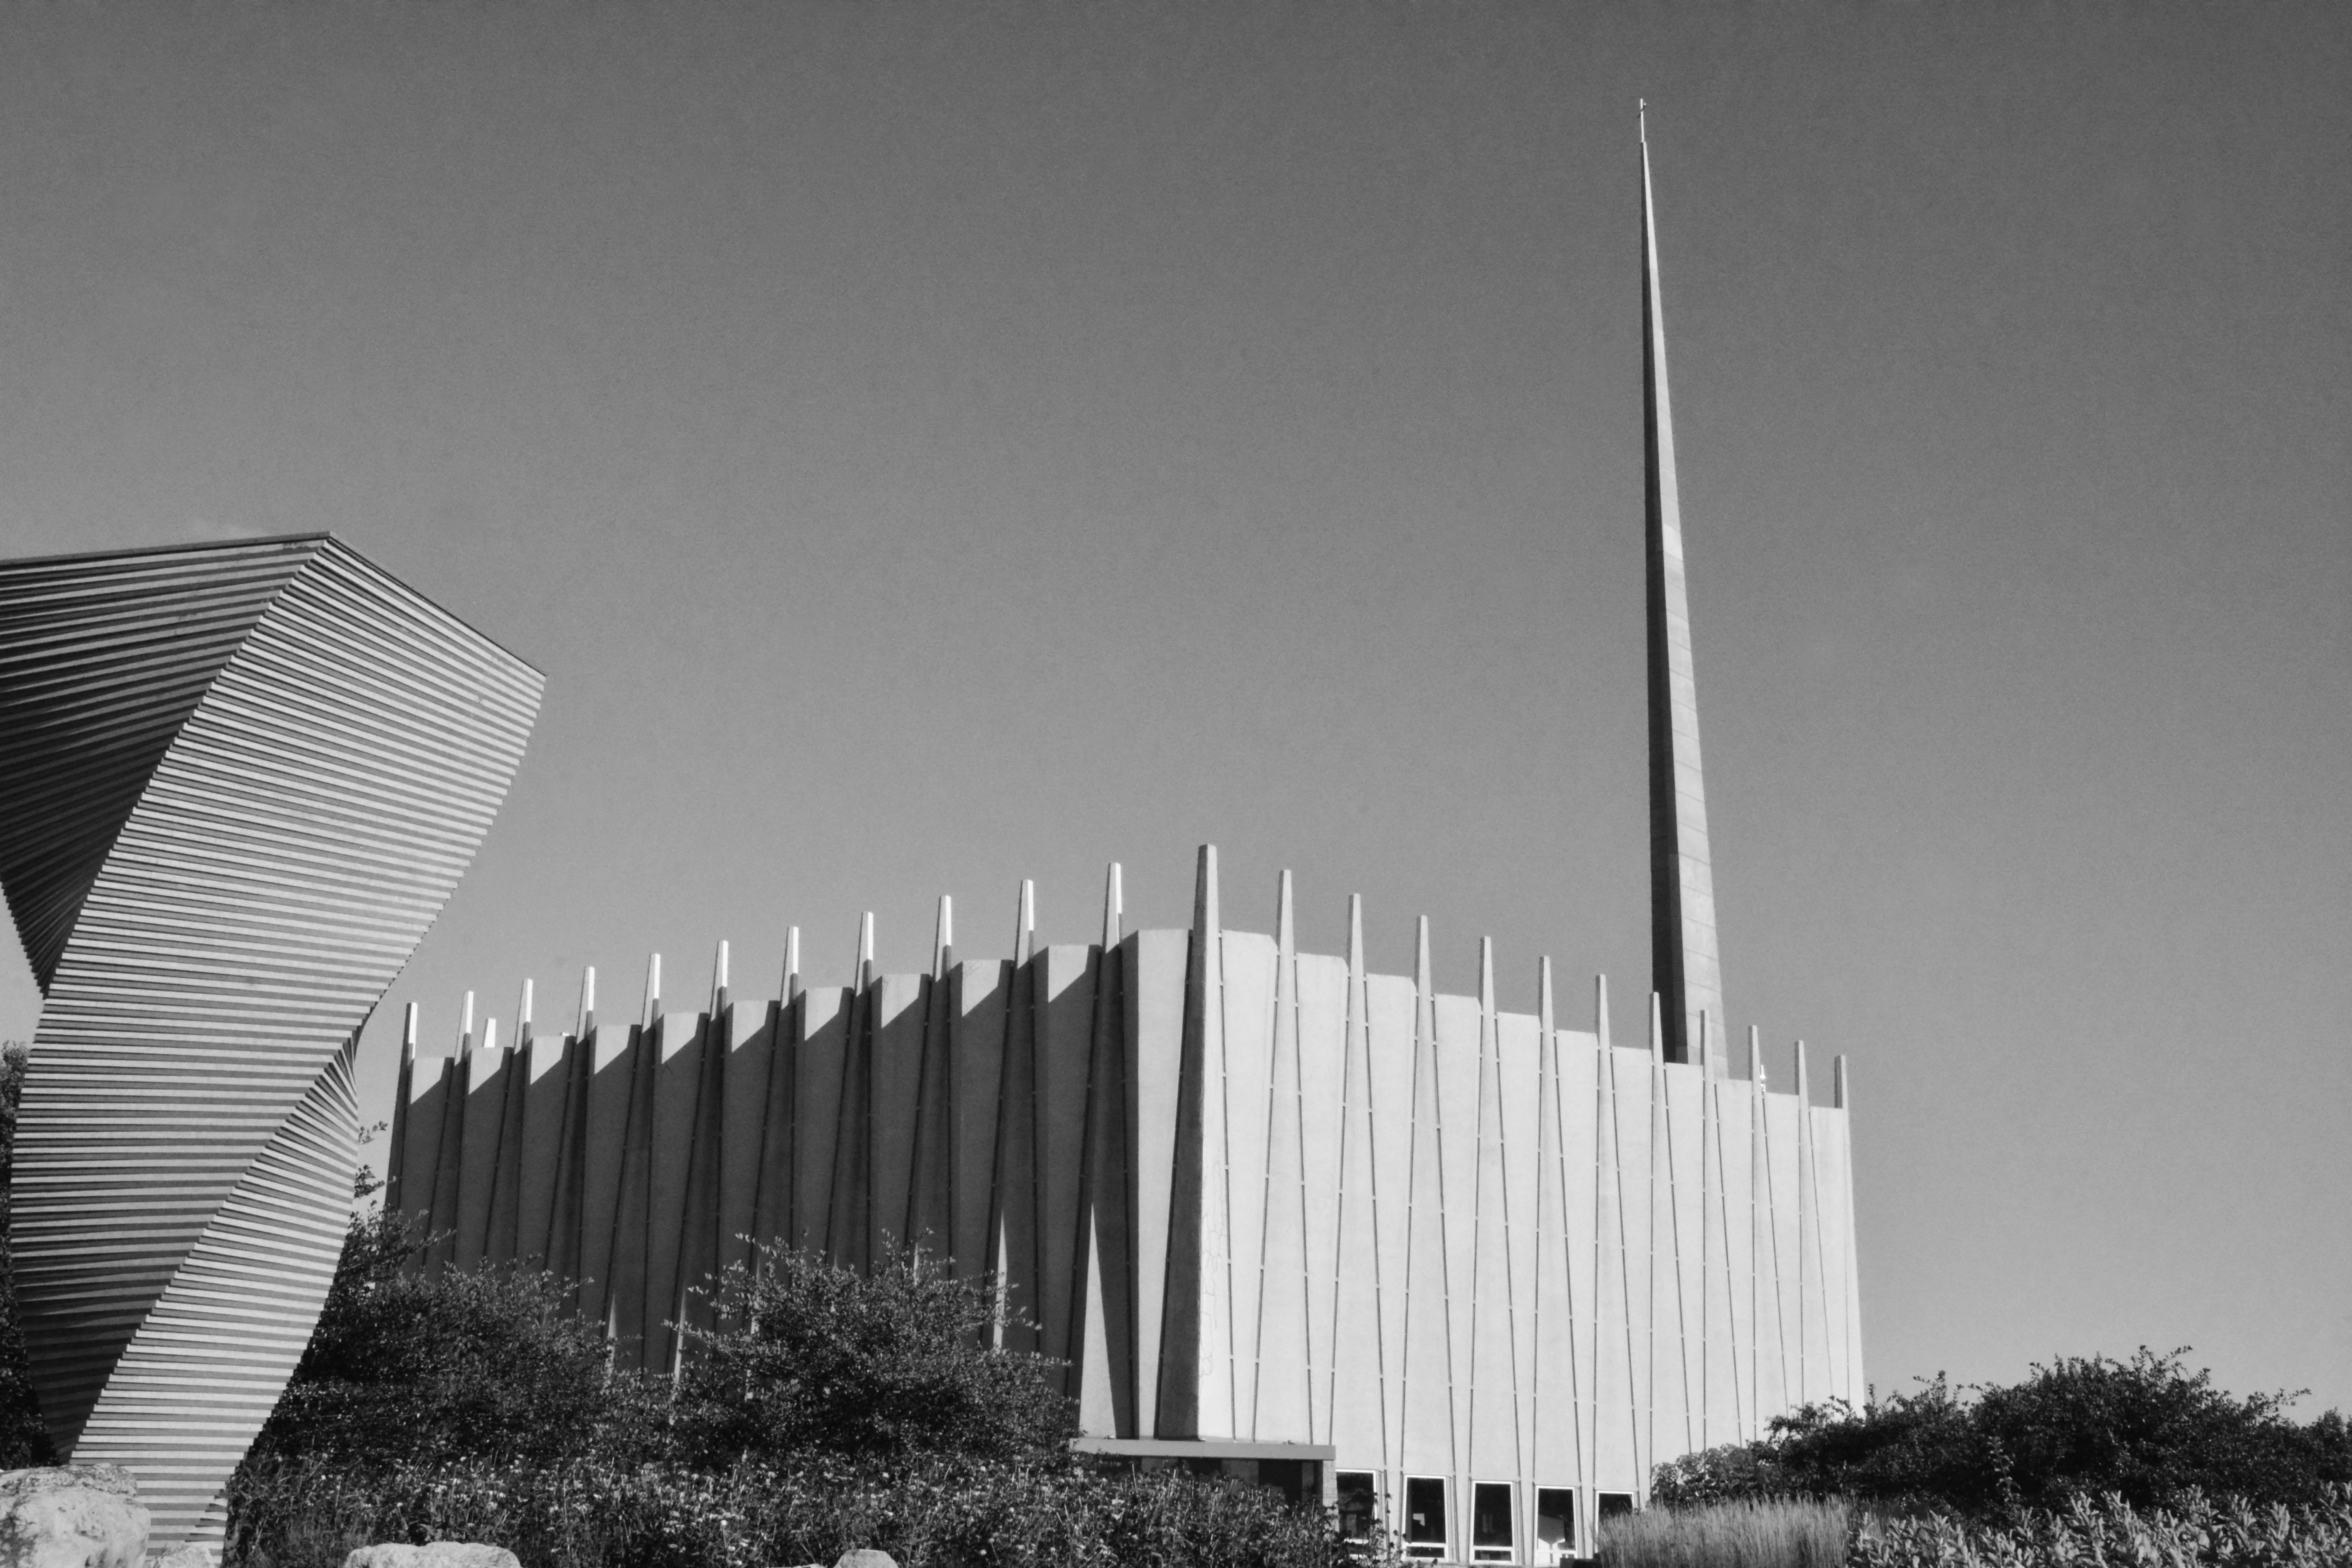
M 2237 1399 L 2180 1356 L 2067 1356 L 1973 1399 L 1938 1378 L 1865 1410 L 1806 1406 L 1757 1443 L 1661 1465 L 1651 1495 L 1670 1507 L 1844 1495 L 1992 1514 L 2110 1493 L 2143 1509 L 2187 1493 L 2317 1502 L 2352 1483 L 2338 1413 L 2296 1422 L 2291 1396 Z

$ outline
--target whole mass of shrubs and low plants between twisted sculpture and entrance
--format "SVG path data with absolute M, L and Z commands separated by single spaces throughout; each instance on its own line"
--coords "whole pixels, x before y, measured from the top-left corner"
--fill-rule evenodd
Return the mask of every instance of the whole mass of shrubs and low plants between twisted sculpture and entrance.
M 294 1382 L 230 1483 L 233 1563 L 334 1568 L 379 1540 L 489 1540 L 527 1568 L 1338 1568 L 1275 1493 L 1075 1460 L 1058 1366 L 990 1349 L 993 1298 L 908 1255 L 722 1276 L 668 1380 L 612 1375 L 555 1281 L 405 1274 L 355 1220 Z

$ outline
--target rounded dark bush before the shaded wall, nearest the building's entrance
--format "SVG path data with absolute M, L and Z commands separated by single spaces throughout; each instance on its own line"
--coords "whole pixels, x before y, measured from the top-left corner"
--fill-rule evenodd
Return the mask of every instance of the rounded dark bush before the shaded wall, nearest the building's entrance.
M 682 1460 L 1033 1460 L 1073 1427 L 1061 1366 L 990 1349 L 1002 1314 L 922 1253 L 861 1276 L 790 1248 L 727 1269 L 673 1408 Z

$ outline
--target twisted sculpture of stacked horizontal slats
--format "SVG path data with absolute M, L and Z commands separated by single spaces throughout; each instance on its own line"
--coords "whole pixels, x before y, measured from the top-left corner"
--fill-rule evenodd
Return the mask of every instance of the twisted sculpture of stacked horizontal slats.
M 327 536 L 0 562 L 0 884 L 45 992 L 16 1121 L 42 1415 L 158 1544 L 318 1321 L 350 1053 L 449 898 L 541 677 Z

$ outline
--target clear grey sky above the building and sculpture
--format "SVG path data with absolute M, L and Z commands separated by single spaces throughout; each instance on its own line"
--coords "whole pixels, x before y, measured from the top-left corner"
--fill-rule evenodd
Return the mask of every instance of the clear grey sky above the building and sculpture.
M 407 1001 L 1174 926 L 1204 842 L 1639 1037 L 1646 99 L 1726 1009 L 1851 1060 L 1870 1378 L 2312 1415 L 2347 80 L 2340 5 L 7 7 L 0 555 L 332 529 L 548 675 L 367 1119 Z

